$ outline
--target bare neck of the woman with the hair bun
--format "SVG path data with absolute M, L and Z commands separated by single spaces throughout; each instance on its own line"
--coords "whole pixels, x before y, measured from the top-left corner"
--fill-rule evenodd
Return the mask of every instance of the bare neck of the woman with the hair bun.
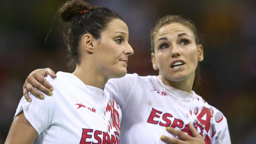
M 73 74 L 84 84 L 98 87 L 102 90 L 108 81 L 108 78 L 105 78 L 103 74 L 95 68 L 95 66 L 89 66 L 88 64 L 77 64 Z

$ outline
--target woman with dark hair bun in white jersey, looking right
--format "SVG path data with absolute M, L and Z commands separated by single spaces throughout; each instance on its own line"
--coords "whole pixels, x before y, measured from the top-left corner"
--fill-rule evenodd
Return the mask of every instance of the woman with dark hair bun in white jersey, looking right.
M 110 78 L 127 73 L 134 53 L 127 25 L 110 9 L 83 0 L 67 1 L 59 14 L 75 70 L 46 78 L 54 87 L 52 97 L 42 94 L 41 101 L 29 94 L 31 103 L 22 97 L 5 144 L 118 144 L 121 109 L 103 89 Z

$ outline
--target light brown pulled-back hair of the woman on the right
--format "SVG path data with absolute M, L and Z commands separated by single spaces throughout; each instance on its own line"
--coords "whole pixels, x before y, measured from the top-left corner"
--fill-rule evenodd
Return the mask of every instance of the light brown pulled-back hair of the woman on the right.
M 158 33 L 159 29 L 162 28 L 163 26 L 166 26 L 166 25 L 172 24 L 172 23 L 179 23 L 179 24 L 182 24 L 183 26 L 186 26 L 187 28 L 191 29 L 191 31 L 194 33 L 194 37 L 195 37 L 195 40 L 196 40 L 196 45 L 200 44 L 199 35 L 197 33 L 196 26 L 195 26 L 195 23 L 193 21 L 185 19 L 185 18 L 183 18 L 182 16 L 179 16 L 179 15 L 167 15 L 167 16 L 162 17 L 161 19 L 159 19 L 156 22 L 153 29 L 151 30 L 150 38 L 151 38 L 151 52 L 152 53 L 155 53 L 154 40 L 155 40 L 156 34 Z M 198 93 L 200 91 L 200 68 L 199 68 L 199 64 L 196 67 L 195 78 L 194 78 L 194 83 L 193 83 L 192 90 L 194 90 L 196 93 Z

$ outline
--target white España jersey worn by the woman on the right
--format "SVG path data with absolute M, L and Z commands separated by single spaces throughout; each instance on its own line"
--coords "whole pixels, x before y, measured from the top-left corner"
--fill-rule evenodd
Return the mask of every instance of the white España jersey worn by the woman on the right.
M 165 144 L 161 135 L 174 137 L 165 127 L 187 135 L 192 122 L 206 144 L 230 144 L 223 113 L 192 94 L 164 85 L 158 76 L 127 74 L 105 86 L 122 109 L 121 144 Z

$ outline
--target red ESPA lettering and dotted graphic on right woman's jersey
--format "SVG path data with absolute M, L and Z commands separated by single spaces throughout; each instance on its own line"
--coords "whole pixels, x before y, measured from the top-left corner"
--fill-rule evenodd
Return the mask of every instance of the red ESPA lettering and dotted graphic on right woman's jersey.
M 191 110 L 189 113 L 192 115 Z M 218 133 L 216 132 L 215 124 L 211 124 L 211 118 L 213 117 L 213 110 L 208 109 L 206 107 L 202 107 L 201 111 L 198 111 L 196 107 L 193 113 L 196 116 L 196 120 L 192 123 L 197 131 L 200 133 L 201 136 L 204 138 L 204 142 L 206 144 L 211 143 L 211 138 L 214 135 L 220 134 L 221 131 Z M 223 115 L 218 112 L 215 114 L 215 121 L 216 123 L 220 123 L 223 120 Z M 148 116 L 147 123 L 160 125 L 163 127 L 173 127 L 181 130 L 182 132 L 186 133 L 187 135 L 192 136 L 191 132 L 189 131 L 189 125 L 185 124 L 183 120 L 175 118 L 171 113 L 163 113 L 162 111 L 158 111 L 152 108 L 150 115 Z

